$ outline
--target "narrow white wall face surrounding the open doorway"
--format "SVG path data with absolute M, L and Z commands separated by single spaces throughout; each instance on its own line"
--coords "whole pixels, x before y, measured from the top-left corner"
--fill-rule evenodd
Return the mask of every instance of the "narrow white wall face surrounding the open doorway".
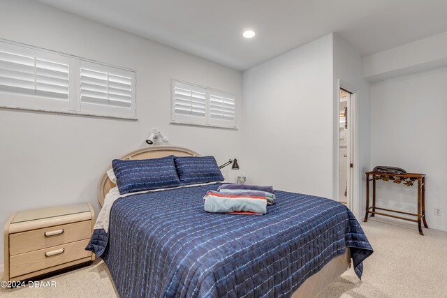
M 357 218 L 362 219 L 365 216 L 365 172 L 371 170 L 370 158 L 370 138 L 371 138 L 371 115 L 369 102 L 369 82 L 362 77 L 362 58 L 356 50 L 346 43 L 342 38 L 333 35 L 334 46 L 334 169 L 333 169 L 333 185 L 334 198 L 337 198 L 339 193 L 338 188 L 338 143 L 339 143 L 339 84 L 342 80 L 349 84 L 356 92 L 356 135 L 354 136 L 354 164 L 356 165 L 356 172 L 354 179 L 357 179 L 357 184 L 354 184 L 353 200 L 354 206 L 351 208 Z M 347 88 L 347 86 L 345 86 Z

